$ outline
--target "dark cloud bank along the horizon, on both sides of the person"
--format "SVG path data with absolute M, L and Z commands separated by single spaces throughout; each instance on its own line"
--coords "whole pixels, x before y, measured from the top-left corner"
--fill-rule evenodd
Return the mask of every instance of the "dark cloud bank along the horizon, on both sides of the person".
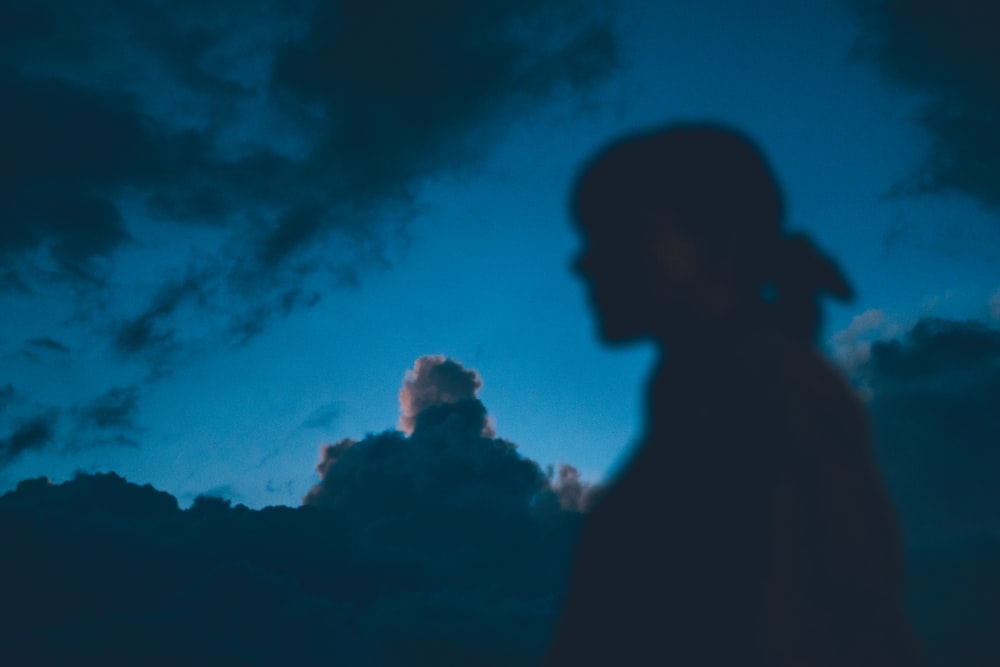
M 993 664 L 1000 329 L 926 318 L 856 359 L 929 664 Z M 0 497 L 17 545 L 0 552 L 16 611 L 0 640 L 105 664 L 535 664 L 600 490 L 495 437 L 481 384 L 418 359 L 400 392 L 412 430 L 323 447 L 298 509 L 203 496 L 181 510 L 114 473 L 22 481 Z

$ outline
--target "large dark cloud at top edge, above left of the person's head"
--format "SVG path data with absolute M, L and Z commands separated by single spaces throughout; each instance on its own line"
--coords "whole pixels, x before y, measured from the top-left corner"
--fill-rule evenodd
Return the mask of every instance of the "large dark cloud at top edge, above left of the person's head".
M 354 187 L 386 190 L 474 156 L 484 121 L 607 75 L 615 38 L 592 7 L 326 2 L 279 50 L 273 81 L 325 109 L 322 159 L 350 155 Z

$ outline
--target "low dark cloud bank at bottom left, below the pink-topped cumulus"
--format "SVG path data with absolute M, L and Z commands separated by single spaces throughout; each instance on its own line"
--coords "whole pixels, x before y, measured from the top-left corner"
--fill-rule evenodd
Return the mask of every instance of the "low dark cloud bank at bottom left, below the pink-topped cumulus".
M 445 564 L 362 540 L 350 514 L 214 497 L 181 510 L 113 473 L 21 482 L 0 498 L 0 526 L 16 545 L 0 552 L 0 640 L 17 664 L 531 665 L 558 575 L 496 558 L 498 581 L 448 585 Z M 512 547 L 556 541 L 496 528 Z

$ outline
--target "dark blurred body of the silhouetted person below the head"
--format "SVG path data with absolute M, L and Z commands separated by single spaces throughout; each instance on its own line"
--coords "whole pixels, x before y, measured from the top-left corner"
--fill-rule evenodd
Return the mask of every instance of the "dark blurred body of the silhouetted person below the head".
M 697 265 L 685 253 L 664 254 Z M 801 335 L 814 311 L 787 327 L 764 302 L 703 298 L 697 271 L 668 267 L 657 320 L 640 310 L 657 305 L 652 290 L 623 310 L 645 289 L 623 291 L 631 267 L 584 271 L 605 331 L 651 335 L 665 360 L 645 437 L 587 518 L 546 664 L 919 664 L 863 411 Z

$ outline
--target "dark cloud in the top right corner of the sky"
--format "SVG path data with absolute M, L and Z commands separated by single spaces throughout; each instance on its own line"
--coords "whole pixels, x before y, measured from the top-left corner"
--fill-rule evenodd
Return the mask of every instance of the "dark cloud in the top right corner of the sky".
M 924 93 L 930 145 L 902 192 L 957 192 L 1000 209 L 1000 5 L 982 0 L 847 0 L 855 53 Z

